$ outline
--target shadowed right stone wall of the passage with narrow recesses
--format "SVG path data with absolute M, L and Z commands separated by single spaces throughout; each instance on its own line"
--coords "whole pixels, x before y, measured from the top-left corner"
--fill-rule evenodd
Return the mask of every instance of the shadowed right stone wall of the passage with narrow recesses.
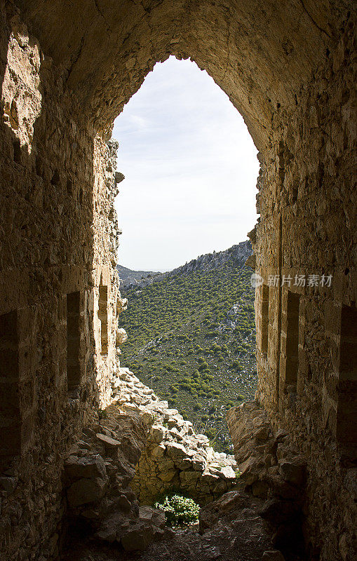
M 257 398 L 308 459 L 310 554 L 329 560 L 352 559 L 356 513 L 351 493 L 357 440 L 354 25 L 351 17 L 335 53 L 312 85 L 299 92 L 295 114 L 277 127 L 278 151 L 262 165 L 262 216 L 255 233 L 256 272 L 265 285 L 269 275 L 279 278 L 278 287 L 269 287 L 267 353 L 262 352 L 264 288 L 256 291 Z M 318 286 L 309 286 L 314 274 Z M 294 286 L 296 275 L 306 276 L 305 286 Z M 330 287 L 321 286 L 323 275 L 332 276 Z M 290 287 L 281 287 L 283 276 L 292 279 Z M 299 296 L 296 337 L 289 332 L 294 318 L 288 292 Z

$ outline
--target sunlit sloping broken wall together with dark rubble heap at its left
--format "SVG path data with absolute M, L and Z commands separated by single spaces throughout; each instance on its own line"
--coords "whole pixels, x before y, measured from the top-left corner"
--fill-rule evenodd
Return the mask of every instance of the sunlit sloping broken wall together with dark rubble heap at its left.
M 69 527 L 84 524 L 98 541 L 142 550 L 173 532 L 161 511 L 140 506 L 137 498 L 152 503 L 175 488 L 207 503 L 236 483 L 235 465 L 234 457 L 215 452 L 177 410 L 119 368 L 111 405 L 83 429 L 65 459 Z

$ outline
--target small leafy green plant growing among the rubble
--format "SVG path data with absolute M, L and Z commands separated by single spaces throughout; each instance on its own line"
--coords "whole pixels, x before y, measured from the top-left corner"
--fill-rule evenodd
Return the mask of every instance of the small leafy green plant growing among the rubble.
M 200 507 L 186 496 L 166 495 L 162 502 L 158 501 L 154 506 L 165 512 L 169 526 L 187 526 L 198 521 Z

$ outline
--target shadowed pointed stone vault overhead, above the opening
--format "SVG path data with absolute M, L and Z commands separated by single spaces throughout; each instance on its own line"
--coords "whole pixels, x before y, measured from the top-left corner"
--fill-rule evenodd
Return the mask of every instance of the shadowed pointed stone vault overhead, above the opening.
M 344 16 L 328 0 L 18 4 L 96 130 L 110 130 L 155 62 L 176 55 L 193 58 L 229 95 L 260 151 L 328 58 Z

